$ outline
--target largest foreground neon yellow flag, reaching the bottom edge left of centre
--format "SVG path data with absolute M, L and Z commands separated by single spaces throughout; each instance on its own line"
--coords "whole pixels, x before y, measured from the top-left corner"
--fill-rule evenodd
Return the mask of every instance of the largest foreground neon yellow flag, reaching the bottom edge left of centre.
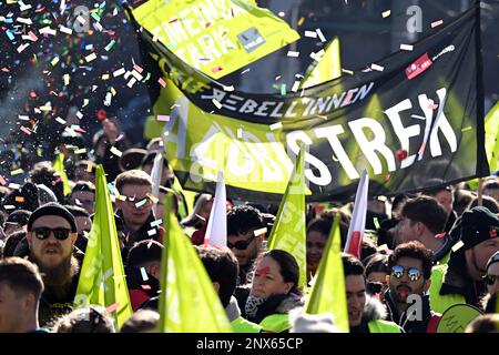
M 161 261 L 160 333 L 230 333 L 225 310 L 190 239 L 165 196 Z

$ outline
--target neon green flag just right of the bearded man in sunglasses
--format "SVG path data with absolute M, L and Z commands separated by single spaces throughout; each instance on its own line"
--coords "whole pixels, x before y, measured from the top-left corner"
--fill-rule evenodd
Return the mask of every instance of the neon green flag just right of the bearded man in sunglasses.
M 101 164 L 98 165 L 95 175 L 95 214 L 74 304 L 106 307 L 114 316 L 118 328 L 132 315 L 113 205 Z

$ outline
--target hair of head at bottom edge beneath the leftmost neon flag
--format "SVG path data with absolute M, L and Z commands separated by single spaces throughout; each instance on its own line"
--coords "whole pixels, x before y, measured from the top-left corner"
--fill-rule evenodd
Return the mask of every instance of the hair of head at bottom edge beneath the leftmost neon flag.
M 101 306 L 85 306 L 53 322 L 54 333 L 114 333 L 113 318 Z

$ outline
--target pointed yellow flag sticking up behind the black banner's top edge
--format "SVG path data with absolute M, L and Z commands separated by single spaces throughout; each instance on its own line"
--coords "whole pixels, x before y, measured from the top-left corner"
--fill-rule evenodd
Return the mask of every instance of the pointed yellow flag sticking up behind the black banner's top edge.
M 342 59 L 339 54 L 339 39 L 335 37 L 327 44 L 320 60 L 308 67 L 299 89 L 314 87 L 339 77 L 342 77 Z

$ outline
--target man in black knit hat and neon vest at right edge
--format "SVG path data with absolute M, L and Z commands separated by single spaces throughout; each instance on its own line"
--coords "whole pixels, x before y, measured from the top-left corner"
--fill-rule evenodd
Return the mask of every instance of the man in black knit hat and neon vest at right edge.
M 487 262 L 499 251 L 499 217 L 488 209 L 466 211 L 459 225 L 461 241 L 455 245 L 448 265 L 435 266 L 431 272 L 430 305 L 439 313 L 460 303 L 481 307 Z

